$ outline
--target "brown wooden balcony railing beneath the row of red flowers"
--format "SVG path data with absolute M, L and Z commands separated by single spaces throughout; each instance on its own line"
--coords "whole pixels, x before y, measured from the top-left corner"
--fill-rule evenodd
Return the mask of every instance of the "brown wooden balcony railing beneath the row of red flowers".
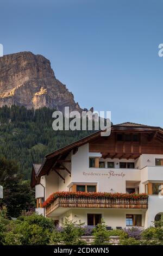
M 109 197 L 75 197 L 62 196 L 46 206 L 46 215 L 58 208 L 103 208 L 103 209 L 147 209 L 147 198 L 109 198 Z

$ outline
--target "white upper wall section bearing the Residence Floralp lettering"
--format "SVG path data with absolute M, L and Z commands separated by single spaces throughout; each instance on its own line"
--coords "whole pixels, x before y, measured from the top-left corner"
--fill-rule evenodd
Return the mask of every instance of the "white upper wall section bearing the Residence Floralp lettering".
M 93 182 L 97 184 L 98 191 L 113 190 L 126 193 L 126 181 L 139 182 L 140 178 L 140 170 L 137 169 L 89 168 L 88 144 L 80 147 L 78 152 L 72 155 L 72 182 L 74 183 Z

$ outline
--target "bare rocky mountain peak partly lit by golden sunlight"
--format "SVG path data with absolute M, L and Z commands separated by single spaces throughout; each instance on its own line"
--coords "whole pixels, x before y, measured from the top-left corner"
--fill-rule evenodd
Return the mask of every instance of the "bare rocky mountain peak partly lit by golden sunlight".
M 55 78 L 48 59 L 32 52 L 20 52 L 0 58 L 0 107 L 49 107 L 81 112 L 73 94 Z

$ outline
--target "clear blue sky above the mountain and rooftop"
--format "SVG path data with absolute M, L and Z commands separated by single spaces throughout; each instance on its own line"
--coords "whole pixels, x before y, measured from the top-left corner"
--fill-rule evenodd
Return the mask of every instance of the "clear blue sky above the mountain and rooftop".
M 1 0 L 4 54 L 32 51 L 81 107 L 163 127 L 162 0 Z

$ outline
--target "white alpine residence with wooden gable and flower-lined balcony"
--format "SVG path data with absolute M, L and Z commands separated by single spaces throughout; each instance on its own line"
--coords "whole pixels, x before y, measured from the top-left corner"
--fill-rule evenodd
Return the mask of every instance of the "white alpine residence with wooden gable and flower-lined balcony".
M 123 123 L 109 137 L 95 132 L 33 164 L 31 186 L 36 211 L 56 224 L 69 215 L 85 225 L 104 218 L 111 228 L 149 227 L 163 213 L 163 129 Z

